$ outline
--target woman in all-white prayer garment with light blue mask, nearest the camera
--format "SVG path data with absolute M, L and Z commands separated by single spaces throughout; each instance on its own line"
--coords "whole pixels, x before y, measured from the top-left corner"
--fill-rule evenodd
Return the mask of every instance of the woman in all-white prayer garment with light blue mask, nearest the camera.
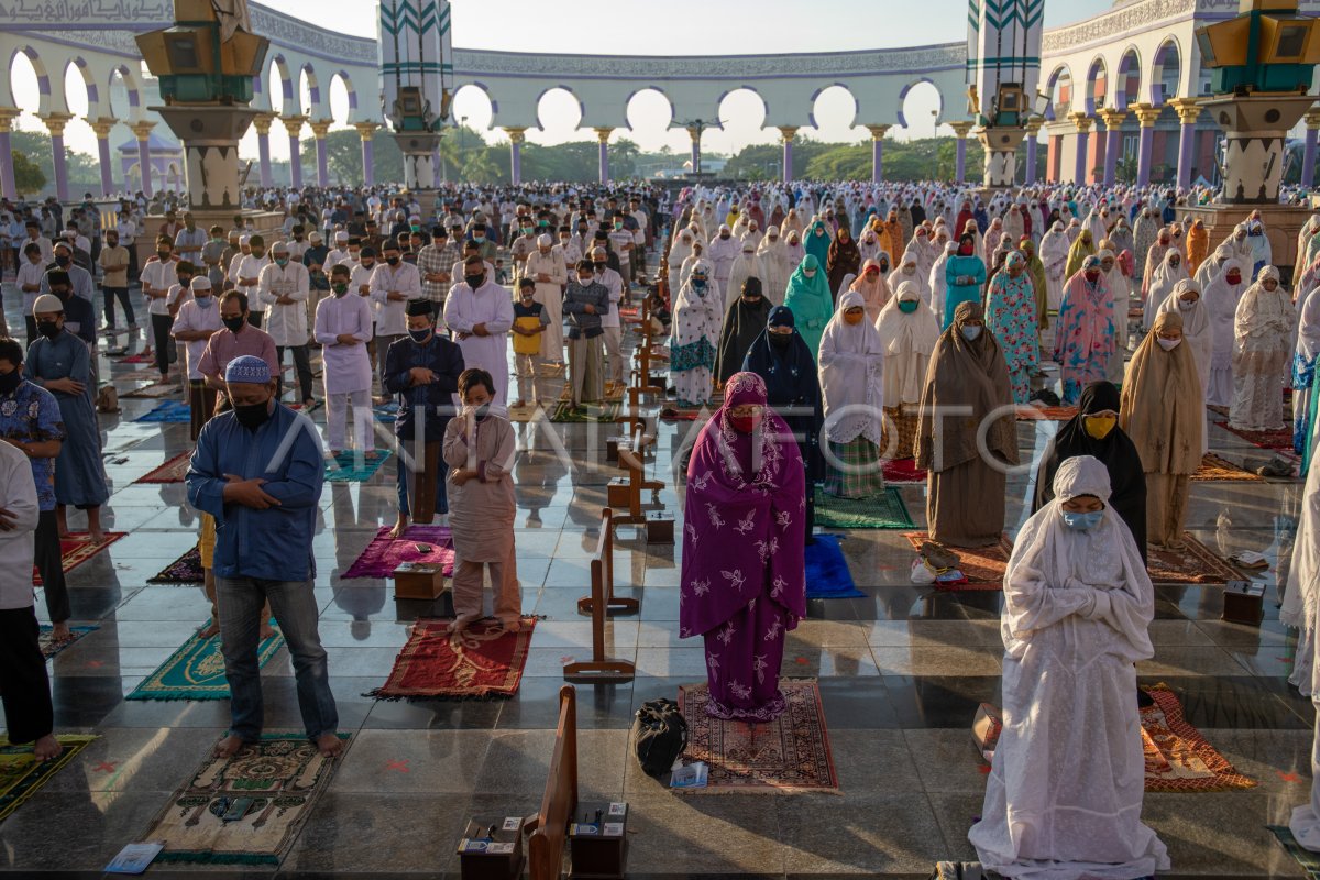
M 1134 664 L 1155 654 L 1155 592 L 1109 505 L 1109 471 L 1065 460 L 1005 575 L 1003 732 L 968 839 L 1014 880 L 1135 880 L 1168 869 L 1142 823 Z

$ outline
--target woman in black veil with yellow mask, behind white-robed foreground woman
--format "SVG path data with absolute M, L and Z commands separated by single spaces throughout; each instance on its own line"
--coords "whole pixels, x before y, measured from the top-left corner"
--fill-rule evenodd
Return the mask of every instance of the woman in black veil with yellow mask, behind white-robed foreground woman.
M 1031 509 L 1036 512 L 1053 500 L 1055 472 L 1064 460 L 1092 455 L 1109 470 L 1113 487 L 1109 503 L 1127 524 L 1146 562 L 1146 474 L 1137 446 L 1118 426 L 1118 401 L 1113 383 L 1097 381 L 1082 389 L 1077 414 L 1064 422 L 1040 460 Z

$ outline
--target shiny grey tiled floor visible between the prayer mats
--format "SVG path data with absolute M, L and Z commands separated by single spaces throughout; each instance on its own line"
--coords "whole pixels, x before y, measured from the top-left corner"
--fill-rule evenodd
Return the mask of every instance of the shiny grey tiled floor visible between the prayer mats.
M 21 326 L 12 285 L 5 293 L 11 326 Z M 133 367 L 102 364 L 120 391 L 133 385 L 123 379 Z M 203 623 L 207 604 L 201 587 L 147 584 L 193 546 L 197 515 L 182 486 L 133 483 L 190 447 L 187 426 L 135 424 L 156 401 L 120 401 L 123 414 L 102 417 L 114 484 L 104 522 L 129 534 L 70 575 L 75 619 L 100 628 L 50 665 L 58 728 L 100 739 L 0 825 L 0 867 L 21 876 L 98 876 L 124 843 L 145 833 L 227 722 L 224 702 L 124 701 Z M 323 410 L 315 417 L 323 421 Z M 576 603 L 589 582 L 603 484 L 614 474 L 603 456 L 607 431 L 594 430 L 519 426 L 523 606 L 545 620 L 521 690 L 507 702 L 362 695 L 388 674 L 417 610 L 396 606 L 384 581 L 341 577 L 376 528 L 393 521 L 393 468 L 368 484 L 327 486 L 315 537 L 315 594 L 331 686 L 343 730 L 355 739 L 280 876 L 457 877 L 453 848 L 470 817 L 535 811 L 561 668 L 590 652 L 590 625 Z M 566 459 L 546 431 L 568 450 Z M 659 431 L 656 471 L 668 486 L 673 451 L 694 427 L 661 424 Z M 1225 458 L 1266 458 L 1221 429 L 1212 431 Z M 1020 439 L 1023 449 L 1043 447 L 1036 425 L 1022 425 Z M 1168 844 L 1175 875 L 1300 876 L 1263 829 L 1303 802 L 1311 784 L 1313 710 L 1284 681 L 1294 639 L 1278 623 L 1275 588 L 1275 563 L 1287 565 L 1300 491 L 1294 482 L 1193 483 L 1193 533 L 1224 554 L 1259 550 L 1272 567 L 1263 577 L 1267 620 L 1261 627 L 1222 623 L 1220 587 L 1159 588 L 1159 619 L 1151 627 L 1156 656 L 1140 664 L 1142 681 L 1173 687 L 1188 719 L 1261 782 L 1250 792 L 1147 797 L 1146 817 Z M 924 488 L 904 486 L 902 495 L 923 526 Z M 673 488 L 660 497 L 681 520 Z M 1014 530 L 1026 519 L 1026 479 L 1011 480 Z M 639 598 L 642 610 L 615 620 L 606 641 L 611 654 L 636 662 L 638 677 L 579 687 L 578 726 L 583 796 L 632 805 L 632 876 L 924 877 L 936 859 L 972 856 L 966 831 L 979 814 L 985 777 L 969 726 L 979 702 L 999 698 L 1001 596 L 909 584 L 911 550 L 898 532 L 854 532 L 842 546 L 865 598 L 812 602 L 810 619 L 792 635 L 785 657 L 787 674 L 820 677 L 842 793 L 676 797 L 631 761 L 628 728 L 642 702 L 675 697 L 681 683 L 704 677 L 702 653 L 676 635 L 678 550 L 648 548 L 620 530 L 619 592 Z M 264 687 L 268 726 L 297 730 L 286 652 L 267 668 Z M 152 869 L 152 876 L 169 873 Z

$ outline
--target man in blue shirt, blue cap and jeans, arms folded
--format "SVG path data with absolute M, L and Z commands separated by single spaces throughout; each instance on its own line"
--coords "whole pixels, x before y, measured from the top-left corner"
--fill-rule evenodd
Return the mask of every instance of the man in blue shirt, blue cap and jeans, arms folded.
M 202 429 L 186 478 L 187 500 L 214 516 L 216 528 L 213 570 L 232 722 L 215 755 L 228 757 L 261 738 L 257 645 L 261 606 L 269 600 L 293 654 L 308 739 L 333 757 L 343 743 L 312 591 L 325 454 L 312 421 L 276 402 L 263 359 L 235 358 L 224 383 L 234 409 Z

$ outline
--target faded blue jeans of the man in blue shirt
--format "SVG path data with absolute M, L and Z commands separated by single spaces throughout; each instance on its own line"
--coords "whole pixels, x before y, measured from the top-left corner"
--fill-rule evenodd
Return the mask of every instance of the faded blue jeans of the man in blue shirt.
M 330 693 L 326 652 L 317 632 L 317 603 L 310 581 L 259 581 L 256 578 L 216 578 L 215 598 L 220 612 L 220 652 L 224 676 L 230 679 L 230 732 L 246 743 L 261 736 L 261 668 L 257 645 L 261 606 L 280 624 L 284 641 L 293 654 L 293 674 L 298 682 L 298 708 L 309 739 L 334 734 L 339 712 Z

